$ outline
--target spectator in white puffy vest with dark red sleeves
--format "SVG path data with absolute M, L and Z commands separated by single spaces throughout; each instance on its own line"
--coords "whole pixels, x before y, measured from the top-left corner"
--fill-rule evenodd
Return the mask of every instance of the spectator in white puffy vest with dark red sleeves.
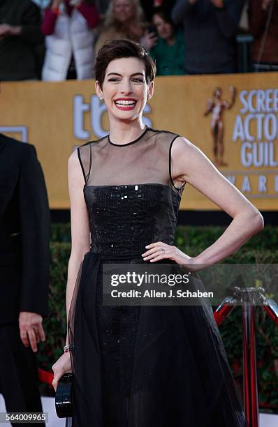
M 98 11 L 92 0 L 52 0 L 45 9 L 43 80 L 90 79 L 93 75 L 94 32 Z

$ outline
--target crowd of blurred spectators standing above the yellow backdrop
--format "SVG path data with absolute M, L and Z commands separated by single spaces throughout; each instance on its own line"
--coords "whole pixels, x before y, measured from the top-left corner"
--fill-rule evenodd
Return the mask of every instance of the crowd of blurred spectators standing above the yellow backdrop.
M 250 70 L 278 70 L 278 0 L 0 0 L 0 80 L 93 78 L 115 38 L 141 43 L 158 75 L 236 73 L 242 33 Z

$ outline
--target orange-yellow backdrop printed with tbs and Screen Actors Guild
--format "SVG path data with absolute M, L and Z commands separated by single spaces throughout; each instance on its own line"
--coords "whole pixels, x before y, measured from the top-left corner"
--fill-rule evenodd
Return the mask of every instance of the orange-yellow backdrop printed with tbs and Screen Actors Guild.
M 156 77 L 144 121 L 196 144 L 258 209 L 278 209 L 278 73 Z M 68 209 L 68 156 L 108 133 L 94 81 L 4 82 L 0 132 L 34 144 L 52 209 Z M 220 156 L 219 156 L 220 155 Z M 186 186 L 181 209 L 219 209 Z

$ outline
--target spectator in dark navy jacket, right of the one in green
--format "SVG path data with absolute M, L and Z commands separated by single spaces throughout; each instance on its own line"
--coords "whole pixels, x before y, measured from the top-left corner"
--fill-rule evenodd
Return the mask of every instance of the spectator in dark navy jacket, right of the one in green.
M 189 74 L 235 73 L 238 22 L 244 0 L 177 0 L 175 24 L 184 24 L 185 68 Z

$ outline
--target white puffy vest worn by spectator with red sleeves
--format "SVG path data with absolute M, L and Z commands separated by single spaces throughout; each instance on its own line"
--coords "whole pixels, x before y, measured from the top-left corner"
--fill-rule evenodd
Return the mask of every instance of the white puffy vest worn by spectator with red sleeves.
M 71 16 L 61 10 L 54 33 L 45 37 L 45 61 L 42 80 L 65 80 L 73 54 L 78 80 L 94 75 L 94 33 L 85 17 L 73 9 Z

